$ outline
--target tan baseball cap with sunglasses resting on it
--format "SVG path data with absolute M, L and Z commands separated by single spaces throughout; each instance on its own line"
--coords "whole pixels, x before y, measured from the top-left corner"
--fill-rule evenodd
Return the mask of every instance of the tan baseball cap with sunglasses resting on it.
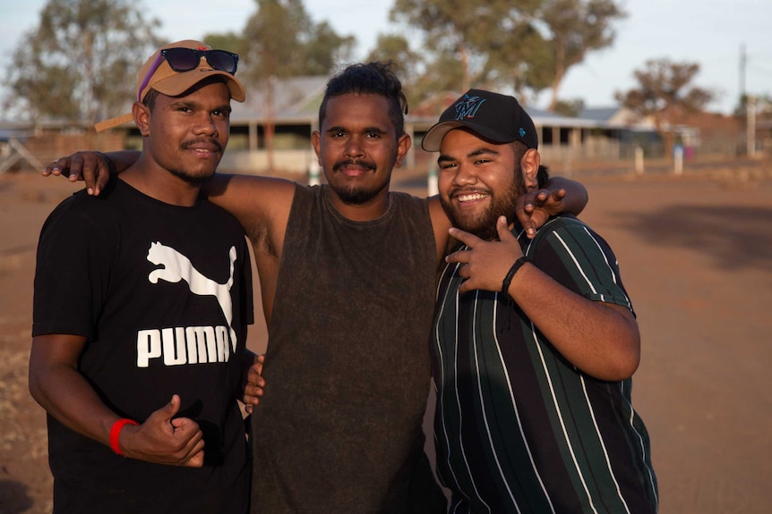
M 226 79 L 225 82 L 227 88 L 230 90 L 230 97 L 236 100 L 236 102 L 244 102 L 244 98 L 246 97 L 244 94 L 244 86 L 242 86 L 241 82 L 236 79 L 236 76 L 232 73 L 214 69 L 203 55 L 195 69 L 187 72 L 176 72 L 161 55 L 162 50 L 167 50 L 169 48 L 191 48 L 193 50 L 202 51 L 212 49 L 211 46 L 205 45 L 201 41 L 194 41 L 193 39 L 185 39 L 184 41 L 176 41 L 175 43 L 161 46 L 156 50 L 155 54 L 150 55 L 150 58 L 145 61 L 142 70 L 140 70 L 139 75 L 137 75 L 138 102 L 144 100 L 150 89 L 155 89 L 168 97 L 177 97 L 182 95 L 188 89 L 193 88 L 193 86 L 202 80 L 217 75 L 221 75 Z M 105 120 L 104 122 L 99 122 L 94 125 L 94 128 L 98 132 L 101 132 L 132 121 L 133 114 L 128 113 Z

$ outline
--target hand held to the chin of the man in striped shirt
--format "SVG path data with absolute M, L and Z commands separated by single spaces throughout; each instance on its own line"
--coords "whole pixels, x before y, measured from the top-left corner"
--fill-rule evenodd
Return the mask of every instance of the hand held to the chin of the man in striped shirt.
M 460 292 L 476 289 L 502 291 L 502 281 L 512 263 L 523 257 L 520 243 L 507 227 L 506 217 L 499 216 L 496 230 L 500 240 L 486 241 L 469 232 L 457 228 L 450 229 L 452 237 L 470 248 L 455 251 L 445 257 L 446 262 L 464 264 L 459 268 L 459 275 L 467 280 L 459 286 Z

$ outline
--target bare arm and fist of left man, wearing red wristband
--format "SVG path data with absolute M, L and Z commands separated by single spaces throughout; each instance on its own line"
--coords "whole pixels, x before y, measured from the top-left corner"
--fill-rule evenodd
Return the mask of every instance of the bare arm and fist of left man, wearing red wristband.
M 32 339 L 30 393 L 64 426 L 109 446 L 110 429 L 120 419 L 77 369 L 86 343 L 81 336 L 51 334 Z M 119 444 L 126 457 L 159 464 L 200 468 L 203 434 L 185 417 L 173 418 L 180 398 L 156 410 L 140 426 L 125 426 Z

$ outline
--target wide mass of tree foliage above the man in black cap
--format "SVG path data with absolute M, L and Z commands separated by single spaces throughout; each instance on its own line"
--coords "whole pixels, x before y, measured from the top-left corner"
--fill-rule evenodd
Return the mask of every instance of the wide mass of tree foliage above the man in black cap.
M 569 68 L 613 43 L 612 0 L 395 0 L 390 21 L 423 35 L 423 74 L 409 88 L 557 91 Z

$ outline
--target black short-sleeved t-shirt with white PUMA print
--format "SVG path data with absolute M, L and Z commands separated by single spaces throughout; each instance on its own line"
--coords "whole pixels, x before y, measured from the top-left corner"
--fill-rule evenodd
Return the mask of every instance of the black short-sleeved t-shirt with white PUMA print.
M 204 432 L 200 469 L 116 456 L 48 416 L 56 511 L 245 512 L 249 459 L 236 399 L 253 322 L 244 231 L 207 201 L 171 206 L 119 179 L 81 191 L 40 234 L 33 335 L 88 341 L 79 371 L 138 422 L 182 400 Z

